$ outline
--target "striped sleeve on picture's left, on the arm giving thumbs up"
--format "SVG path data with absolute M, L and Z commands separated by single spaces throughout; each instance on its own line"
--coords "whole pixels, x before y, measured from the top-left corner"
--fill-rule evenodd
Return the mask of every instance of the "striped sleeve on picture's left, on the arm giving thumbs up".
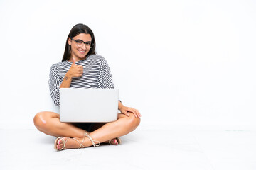
M 62 79 L 58 74 L 58 68 L 55 64 L 50 67 L 50 79 L 49 79 L 49 88 L 50 88 L 50 96 L 53 100 L 53 103 L 56 106 L 60 106 L 60 84 Z

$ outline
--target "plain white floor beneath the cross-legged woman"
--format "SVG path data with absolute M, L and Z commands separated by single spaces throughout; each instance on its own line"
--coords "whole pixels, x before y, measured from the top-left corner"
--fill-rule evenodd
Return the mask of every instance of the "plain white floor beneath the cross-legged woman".
M 53 149 L 55 137 L 0 129 L 0 169 L 256 169 L 256 131 L 135 130 L 122 145 Z

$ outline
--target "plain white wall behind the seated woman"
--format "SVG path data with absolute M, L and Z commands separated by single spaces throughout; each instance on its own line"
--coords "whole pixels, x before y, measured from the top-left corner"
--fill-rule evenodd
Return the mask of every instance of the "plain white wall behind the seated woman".
M 255 8 L 250 0 L 2 0 L 0 128 L 33 128 L 36 113 L 57 111 L 49 69 L 76 23 L 92 28 L 141 128 L 255 128 Z

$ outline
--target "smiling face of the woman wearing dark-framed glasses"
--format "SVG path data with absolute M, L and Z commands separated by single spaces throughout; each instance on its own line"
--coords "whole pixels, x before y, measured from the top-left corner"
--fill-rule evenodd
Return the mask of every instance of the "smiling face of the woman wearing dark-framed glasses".
M 84 43 L 85 42 L 85 43 Z M 75 37 L 68 38 L 68 44 L 71 46 L 71 58 L 75 58 L 75 61 L 85 60 L 86 55 L 90 51 L 90 44 L 92 38 L 90 34 L 80 33 Z

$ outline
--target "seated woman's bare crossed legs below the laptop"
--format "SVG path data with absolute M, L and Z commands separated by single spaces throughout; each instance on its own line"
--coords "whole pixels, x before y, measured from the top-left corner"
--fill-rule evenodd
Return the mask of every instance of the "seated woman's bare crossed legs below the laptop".
M 80 142 L 82 142 L 85 133 L 85 130 L 77 128 L 70 123 L 61 123 L 59 115 L 53 112 L 41 112 L 36 114 L 34 123 L 38 130 L 46 133 L 47 135 L 55 137 L 76 137 Z M 119 114 L 117 121 L 106 123 L 105 125 L 102 125 L 101 128 L 98 128 L 91 133 L 87 132 L 87 134 L 90 134 L 90 137 L 92 137 L 93 140 L 105 142 L 132 132 L 137 128 L 139 123 L 140 118 L 135 118 L 133 114 L 130 114 L 129 117 Z M 67 138 L 64 140 L 67 140 Z M 58 142 L 60 142 L 59 147 L 63 147 L 63 141 L 60 140 Z M 88 147 L 92 145 L 92 142 L 85 137 L 85 141 L 82 144 L 85 147 Z M 75 140 L 68 140 L 65 145 L 67 148 L 76 148 L 78 146 L 79 144 Z

